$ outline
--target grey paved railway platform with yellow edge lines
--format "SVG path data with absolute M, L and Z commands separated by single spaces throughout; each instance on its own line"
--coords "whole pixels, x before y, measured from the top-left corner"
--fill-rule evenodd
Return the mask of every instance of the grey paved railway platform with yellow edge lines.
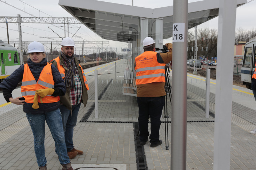
M 71 160 L 72 167 L 79 170 L 168 170 L 171 156 L 171 123 L 160 128 L 162 145 L 155 148 L 150 143 L 139 145 L 135 139 L 138 132 L 138 106 L 136 97 L 122 94 L 123 60 L 85 69 L 88 103 L 83 104 L 74 129 L 74 145 L 84 151 Z M 98 118 L 95 118 L 94 70 L 98 70 Z M 116 69 L 116 74 L 115 74 Z M 171 72 L 172 73 L 172 72 Z M 171 75 L 170 73 L 170 75 Z M 129 80 L 128 80 L 129 81 Z M 210 116 L 205 118 L 205 78 L 187 76 L 187 170 L 213 169 L 214 113 L 216 81 L 210 83 Z M 172 89 L 173 90 L 173 89 Z M 20 89 L 13 97 L 21 96 Z M 174 100 L 174 99 L 173 99 Z M 256 102 L 251 90 L 233 86 L 231 170 L 256 169 Z M 168 104 L 171 121 L 171 105 Z M 168 143 L 165 142 L 165 125 L 168 126 Z M 150 130 L 150 124 L 149 124 Z M 167 133 L 167 132 L 166 132 Z M 166 150 L 169 145 L 169 150 Z M 47 168 L 61 169 L 55 153 L 54 140 L 45 126 L 45 154 Z M 0 169 L 36 170 L 33 135 L 22 106 L 6 103 L 0 94 Z

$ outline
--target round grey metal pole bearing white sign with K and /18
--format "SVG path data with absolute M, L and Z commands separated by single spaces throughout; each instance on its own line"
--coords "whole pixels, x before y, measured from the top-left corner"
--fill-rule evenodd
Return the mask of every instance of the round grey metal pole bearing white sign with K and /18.
M 188 0 L 173 0 L 171 170 L 186 170 Z

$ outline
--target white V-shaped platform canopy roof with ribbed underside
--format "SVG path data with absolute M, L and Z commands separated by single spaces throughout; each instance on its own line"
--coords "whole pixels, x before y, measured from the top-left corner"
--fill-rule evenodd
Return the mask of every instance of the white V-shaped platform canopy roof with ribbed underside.
M 218 2 L 188 3 L 188 29 L 217 17 Z M 237 0 L 237 6 L 244 3 L 247 0 Z M 106 40 L 133 41 L 134 35 L 140 34 L 141 18 L 149 18 L 149 35 L 154 34 L 155 19 L 163 18 L 163 39 L 172 37 L 173 6 L 151 9 L 97 0 L 59 0 L 59 5 Z

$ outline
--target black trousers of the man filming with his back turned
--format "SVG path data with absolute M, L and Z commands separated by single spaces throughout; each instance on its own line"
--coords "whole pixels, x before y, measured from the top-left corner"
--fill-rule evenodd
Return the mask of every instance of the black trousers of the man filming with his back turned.
M 159 140 L 160 118 L 164 106 L 164 96 L 137 97 L 137 103 L 139 106 L 140 140 L 146 141 L 148 139 L 148 118 L 150 116 L 151 133 L 149 139 L 150 143 L 156 144 Z

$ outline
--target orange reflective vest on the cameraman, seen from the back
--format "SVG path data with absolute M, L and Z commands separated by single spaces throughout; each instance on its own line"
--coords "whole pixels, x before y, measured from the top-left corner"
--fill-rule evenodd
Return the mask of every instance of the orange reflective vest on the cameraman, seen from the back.
M 157 62 L 156 54 L 145 51 L 135 58 L 136 84 L 165 82 L 165 64 Z

